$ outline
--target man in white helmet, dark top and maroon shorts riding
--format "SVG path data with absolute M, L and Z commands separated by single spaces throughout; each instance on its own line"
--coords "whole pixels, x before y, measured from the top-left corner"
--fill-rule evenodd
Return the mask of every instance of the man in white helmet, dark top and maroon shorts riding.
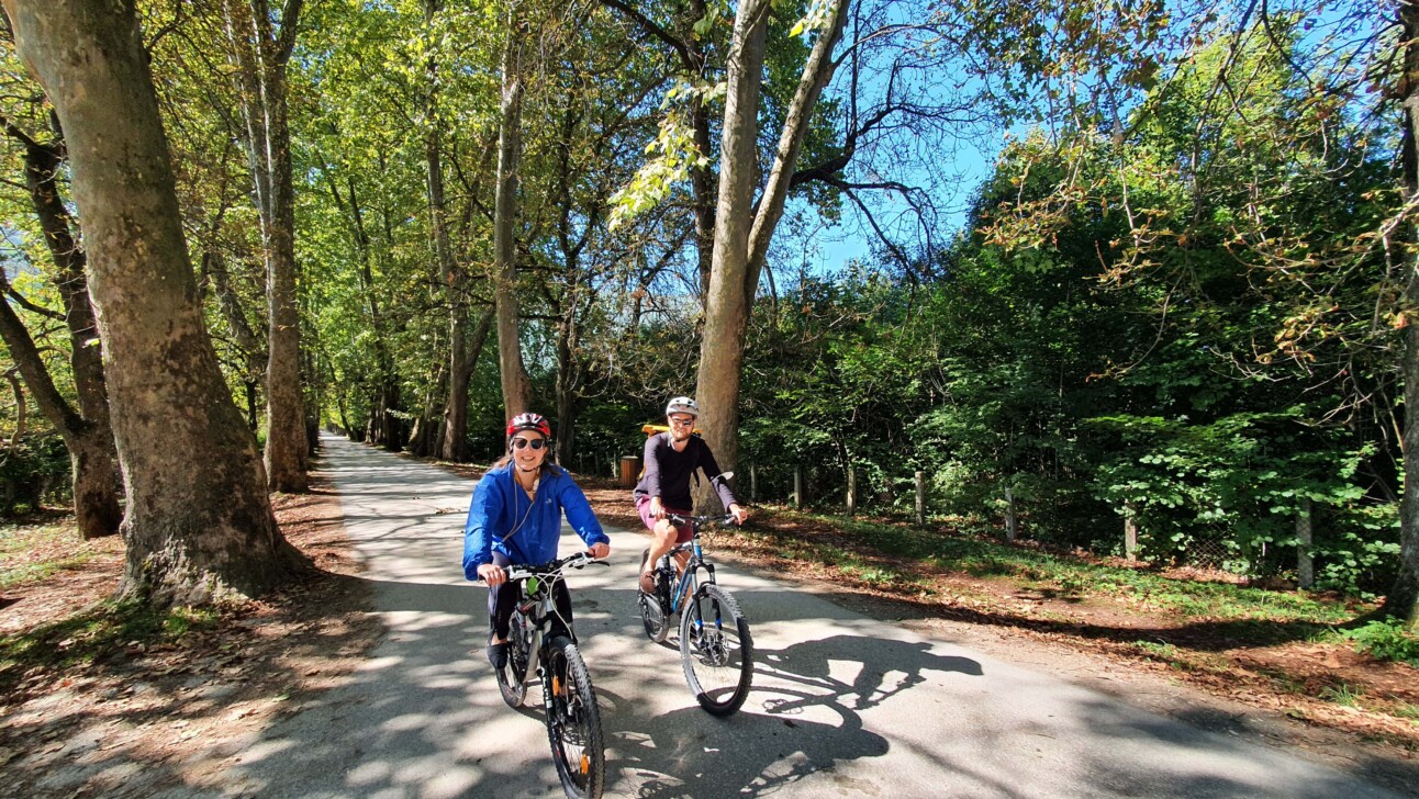
M 666 421 L 670 430 L 646 439 L 646 470 L 634 492 L 636 512 L 654 536 L 640 565 L 640 590 L 646 593 L 656 590 L 656 561 L 677 544 L 694 536 L 690 525 L 677 528 L 666 515 L 690 515 L 694 507 L 690 478 L 697 468 L 704 470 L 705 478 L 710 480 L 735 524 L 744 524 L 744 519 L 749 518 L 749 511 L 739 505 L 728 481 L 724 480 L 710 444 L 694 434 L 697 419 L 700 419 L 700 404 L 690 397 L 675 397 L 666 404 Z M 684 563 L 678 566 L 684 568 Z

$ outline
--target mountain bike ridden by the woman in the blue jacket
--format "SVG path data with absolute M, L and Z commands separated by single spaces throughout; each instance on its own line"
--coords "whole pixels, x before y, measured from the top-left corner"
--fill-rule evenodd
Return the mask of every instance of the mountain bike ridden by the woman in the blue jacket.
M 562 789 L 573 799 L 595 799 L 606 783 L 606 745 L 596 691 L 576 649 L 576 633 L 549 634 L 556 619 L 553 586 L 569 569 L 602 563 L 586 552 L 538 566 L 508 566 L 518 603 L 508 624 L 508 664 L 498 670 L 498 690 L 508 707 L 519 707 L 534 680 L 542 681 L 546 737 Z

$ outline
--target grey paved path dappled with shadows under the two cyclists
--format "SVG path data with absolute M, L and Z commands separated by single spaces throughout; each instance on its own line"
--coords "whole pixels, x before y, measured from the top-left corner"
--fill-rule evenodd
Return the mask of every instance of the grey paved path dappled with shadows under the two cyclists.
M 267 729 L 228 796 L 559 796 L 541 708 L 502 704 L 485 589 L 463 579 L 473 481 L 322 437 L 387 634 L 355 680 Z M 721 568 L 756 646 L 744 710 L 710 717 L 634 607 L 647 538 L 572 576 L 606 732 L 607 796 L 1392 798 L 1276 749 Z M 578 544 L 563 531 L 562 552 Z M 711 553 L 712 555 L 712 553 Z M 674 639 L 671 639 L 674 643 Z

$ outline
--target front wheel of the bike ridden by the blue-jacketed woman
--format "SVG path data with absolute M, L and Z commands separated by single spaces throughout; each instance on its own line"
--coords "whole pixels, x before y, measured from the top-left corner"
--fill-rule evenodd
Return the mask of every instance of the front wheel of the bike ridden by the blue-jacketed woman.
M 596 690 L 586 661 L 570 639 L 548 646 L 546 737 L 562 790 L 572 799 L 596 799 L 606 785 L 606 742 Z

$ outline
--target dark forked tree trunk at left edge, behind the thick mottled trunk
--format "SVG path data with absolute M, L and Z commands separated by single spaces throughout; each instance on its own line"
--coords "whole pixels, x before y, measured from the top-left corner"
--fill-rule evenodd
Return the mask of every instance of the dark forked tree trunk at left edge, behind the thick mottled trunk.
M 108 387 L 104 380 L 104 349 L 99 346 L 98 325 L 89 301 L 88 278 L 84 274 L 84 250 L 72 233 L 72 219 L 64 206 L 55 175 L 62 160 L 62 139 L 41 145 L 14 125 L 6 123 L 11 138 L 24 146 L 26 186 L 30 203 L 44 230 L 44 241 L 54 260 L 53 282 L 64 301 L 64 322 L 70 329 L 70 369 L 79 410 L 75 413 L 54 390 L 48 369 L 34 351 L 34 342 L 18 318 L 7 319 L 6 342 L 18 360 L 17 348 L 34 351 L 34 366 L 40 373 L 21 369 L 45 417 L 64 437 L 70 451 L 70 474 L 74 492 L 74 518 L 79 535 L 87 541 L 118 535 L 123 521 L 122 483 L 118 473 L 118 451 L 114 448 L 114 429 L 109 421 Z M 4 278 L 0 277 L 0 287 Z M 6 288 L 9 291 L 9 288 Z M 4 294 L 0 291 L 0 294 Z M 6 308 L 9 312 L 9 307 Z M 11 314 L 13 316 L 13 314 Z M 17 328 L 17 329 L 16 329 Z M 11 342 L 11 336 L 16 341 Z M 34 385 L 44 380 L 47 385 Z

